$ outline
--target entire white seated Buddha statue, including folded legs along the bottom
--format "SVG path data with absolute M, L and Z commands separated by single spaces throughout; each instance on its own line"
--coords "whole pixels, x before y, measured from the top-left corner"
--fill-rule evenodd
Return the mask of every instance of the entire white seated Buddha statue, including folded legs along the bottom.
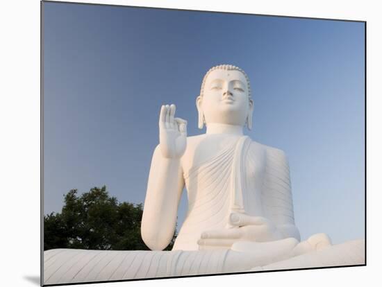
M 44 284 L 174 277 L 258 270 L 362 265 L 363 240 L 331 245 L 315 234 L 300 242 L 285 153 L 243 134 L 252 126 L 249 79 L 229 65 L 211 68 L 196 99 L 199 128 L 163 105 L 141 233 L 153 251 L 48 250 Z M 188 213 L 169 245 L 183 189 Z

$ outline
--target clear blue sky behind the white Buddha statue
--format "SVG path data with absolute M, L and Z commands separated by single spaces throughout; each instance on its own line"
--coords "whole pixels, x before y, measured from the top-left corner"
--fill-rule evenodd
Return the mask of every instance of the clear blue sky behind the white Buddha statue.
M 301 238 L 363 238 L 364 37 L 359 22 L 44 3 L 44 214 L 93 186 L 144 202 L 160 105 L 204 132 L 204 73 L 235 64 L 255 103 L 247 134 L 288 155 Z

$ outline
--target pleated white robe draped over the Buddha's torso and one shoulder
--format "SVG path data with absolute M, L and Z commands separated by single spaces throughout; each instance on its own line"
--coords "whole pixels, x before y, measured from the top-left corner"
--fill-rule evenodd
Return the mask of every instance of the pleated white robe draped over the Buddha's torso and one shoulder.
M 198 250 L 201 233 L 230 228 L 232 212 L 294 225 L 288 162 L 282 150 L 238 137 L 183 171 L 188 214 L 174 250 Z

